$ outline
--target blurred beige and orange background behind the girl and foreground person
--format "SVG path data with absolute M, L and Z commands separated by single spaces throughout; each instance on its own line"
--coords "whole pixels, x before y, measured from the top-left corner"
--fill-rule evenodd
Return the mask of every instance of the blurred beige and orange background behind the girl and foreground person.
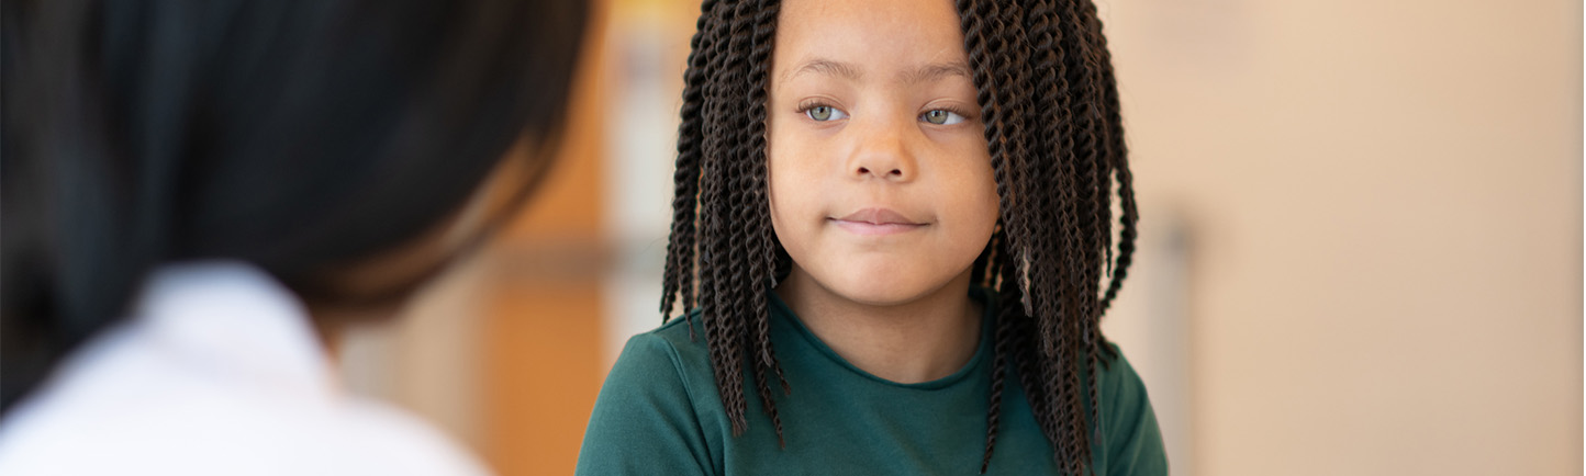
M 1175 474 L 1581 473 L 1581 3 L 1099 0 L 1142 210 L 1104 327 Z M 596 2 L 512 229 L 344 343 L 351 386 L 569 474 L 660 324 L 698 2 Z

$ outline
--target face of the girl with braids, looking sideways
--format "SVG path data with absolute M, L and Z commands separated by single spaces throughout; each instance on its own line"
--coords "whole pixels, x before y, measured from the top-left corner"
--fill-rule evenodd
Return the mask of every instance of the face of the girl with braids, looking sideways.
M 768 168 L 793 274 L 866 305 L 969 274 L 998 195 L 963 44 L 947 0 L 783 2 Z

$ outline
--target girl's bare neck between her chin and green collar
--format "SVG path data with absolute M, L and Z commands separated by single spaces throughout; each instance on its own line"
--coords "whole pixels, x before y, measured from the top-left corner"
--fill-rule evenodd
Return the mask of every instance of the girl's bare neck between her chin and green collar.
M 963 368 L 980 343 L 980 304 L 969 299 L 969 272 L 910 302 L 853 302 L 793 267 L 777 296 L 833 351 L 896 383 L 923 383 Z

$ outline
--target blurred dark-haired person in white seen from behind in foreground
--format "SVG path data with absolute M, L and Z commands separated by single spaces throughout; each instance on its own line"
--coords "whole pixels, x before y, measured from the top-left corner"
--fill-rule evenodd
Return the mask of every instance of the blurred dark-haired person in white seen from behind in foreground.
M 349 395 L 393 316 L 512 215 L 580 2 L 8 2 L 0 474 L 473 474 Z

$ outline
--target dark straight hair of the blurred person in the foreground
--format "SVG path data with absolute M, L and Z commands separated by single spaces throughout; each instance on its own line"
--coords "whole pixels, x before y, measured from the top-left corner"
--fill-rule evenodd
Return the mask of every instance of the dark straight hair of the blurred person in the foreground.
M 154 266 L 241 259 L 336 300 L 327 272 L 439 226 L 517 141 L 542 176 L 585 8 L 8 0 L 0 411 Z

